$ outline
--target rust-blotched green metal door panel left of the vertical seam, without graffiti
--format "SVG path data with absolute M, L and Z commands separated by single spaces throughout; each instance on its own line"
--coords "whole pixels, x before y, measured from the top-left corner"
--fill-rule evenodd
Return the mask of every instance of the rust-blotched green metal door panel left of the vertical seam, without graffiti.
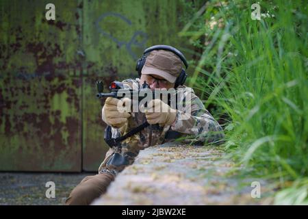
M 0 2 L 0 170 L 81 170 L 77 1 Z

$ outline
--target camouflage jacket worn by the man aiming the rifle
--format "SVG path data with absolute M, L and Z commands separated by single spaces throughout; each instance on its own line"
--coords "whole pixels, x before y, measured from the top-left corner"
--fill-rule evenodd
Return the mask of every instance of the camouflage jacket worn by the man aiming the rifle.
M 138 78 L 135 80 L 127 79 L 122 82 L 125 88 L 140 88 L 140 79 Z M 186 113 L 183 109 L 181 109 L 183 111 L 177 110 L 177 116 L 172 125 L 165 125 L 155 130 L 152 127 L 146 127 L 139 133 L 121 142 L 120 146 L 110 148 L 105 155 L 103 163 L 99 166 L 99 173 L 110 172 L 116 176 L 126 166 L 133 164 L 140 150 L 175 140 L 175 138 L 183 137 L 181 138 L 183 141 L 196 140 L 203 144 L 219 143 L 222 141 L 224 138 L 222 128 L 205 109 L 192 88 L 179 86 L 177 90 L 179 89 L 188 91 L 183 95 L 182 101 L 191 104 L 190 114 Z M 120 129 L 112 128 L 112 138 L 117 138 L 144 122 L 146 122 L 144 113 L 131 112 L 127 125 Z

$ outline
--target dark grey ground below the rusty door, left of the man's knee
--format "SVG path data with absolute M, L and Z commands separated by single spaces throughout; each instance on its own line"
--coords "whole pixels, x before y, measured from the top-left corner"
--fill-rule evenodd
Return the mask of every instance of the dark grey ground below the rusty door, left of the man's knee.
M 94 173 L 0 173 L 0 205 L 63 205 L 81 179 Z M 47 198 L 48 181 L 55 183 L 55 198 Z

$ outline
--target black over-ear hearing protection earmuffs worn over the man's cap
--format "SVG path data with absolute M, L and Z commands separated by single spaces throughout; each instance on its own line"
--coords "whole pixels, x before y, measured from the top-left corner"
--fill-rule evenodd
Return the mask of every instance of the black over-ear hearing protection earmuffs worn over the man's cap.
M 159 49 L 175 53 L 175 55 L 177 55 L 182 60 L 183 64 L 185 65 L 185 68 L 186 69 L 188 68 L 188 63 L 184 55 L 179 50 L 175 49 L 175 47 L 170 47 L 167 45 L 156 45 L 156 46 L 149 47 L 148 49 L 144 50 L 142 57 L 140 57 L 140 59 L 137 60 L 136 70 L 138 71 L 139 77 L 141 77 L 141 70 L 146 62 L 146 57 L 149 55 L 151 51 L 159 50 Z M 185 83 L 186 77 L 187 77 L 187 74 L 185 73 L 184 68 L 182 68 L 180 75 L 175 80 L 175 88 L 177 88 L 180 85 L 183 85 L 183 83 Z

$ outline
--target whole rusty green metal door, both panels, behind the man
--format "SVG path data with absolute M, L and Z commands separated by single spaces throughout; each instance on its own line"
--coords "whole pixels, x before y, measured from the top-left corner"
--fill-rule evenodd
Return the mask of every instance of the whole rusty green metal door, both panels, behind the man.
M 103 101 L 95 81 L 138 77 L 153 44 L 181 49 L 179 1 L 0 2 L 0 170 L 96 171 Z

